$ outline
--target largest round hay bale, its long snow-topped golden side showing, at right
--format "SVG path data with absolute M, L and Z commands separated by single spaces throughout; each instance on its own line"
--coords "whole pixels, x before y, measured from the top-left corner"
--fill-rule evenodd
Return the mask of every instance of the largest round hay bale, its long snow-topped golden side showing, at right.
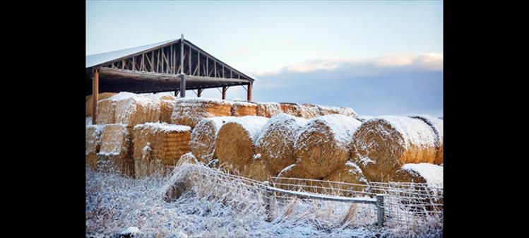
M 434 131 L 410 117 L 383 116 L 365 121 L 354 134 L 351 157 L 369 181 L 380 181 L 407 163 L 433 163 Z

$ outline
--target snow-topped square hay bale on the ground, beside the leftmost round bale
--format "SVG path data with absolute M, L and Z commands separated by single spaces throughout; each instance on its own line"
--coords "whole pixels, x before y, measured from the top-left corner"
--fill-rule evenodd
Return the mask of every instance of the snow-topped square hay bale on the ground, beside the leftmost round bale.
M 136 177 L 164 174 L 189 153 L 191 127 L 166 123 L 134 126 L 133 159 Z

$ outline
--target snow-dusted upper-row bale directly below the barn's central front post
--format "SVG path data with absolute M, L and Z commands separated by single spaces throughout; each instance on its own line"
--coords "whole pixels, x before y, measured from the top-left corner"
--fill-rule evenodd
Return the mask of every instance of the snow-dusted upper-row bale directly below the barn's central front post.
M 232 104 L 225 100 L 211 98 L 179 98 L 174 105 L 171 124 L 180 124 L 194 128 L 207 117 L 226 117 L 232 114 Z

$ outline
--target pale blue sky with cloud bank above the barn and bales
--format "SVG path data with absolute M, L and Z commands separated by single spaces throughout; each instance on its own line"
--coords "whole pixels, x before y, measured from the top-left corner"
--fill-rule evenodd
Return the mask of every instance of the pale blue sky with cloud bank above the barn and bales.
M 86 1 L 87 55 L 181 33 L 255 78 L 256 102 L 443 115 L 442 1 Z

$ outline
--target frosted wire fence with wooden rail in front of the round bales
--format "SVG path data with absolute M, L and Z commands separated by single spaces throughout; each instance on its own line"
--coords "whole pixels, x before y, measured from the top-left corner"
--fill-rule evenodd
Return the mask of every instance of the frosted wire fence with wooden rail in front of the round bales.
M 173 179 L 179 185 L 168 188 L 168 200 L 175 198 L 178 187 L 186 186 L 201 196 L 244 197 L 245 209 L 261 211 L 271 221 L 323 210 L 325 218 L 317 221 L 323 220 L 322 226 L 379 225 L 377 209 L 382 208 L 386 227 L 443 225 L 442 184 L 348 184 L 285 177 L 263 183 L 203 165 L 186 164 L 178 169 Z M 376 203 L 377 195 L 384 196 L 383 203 Z

